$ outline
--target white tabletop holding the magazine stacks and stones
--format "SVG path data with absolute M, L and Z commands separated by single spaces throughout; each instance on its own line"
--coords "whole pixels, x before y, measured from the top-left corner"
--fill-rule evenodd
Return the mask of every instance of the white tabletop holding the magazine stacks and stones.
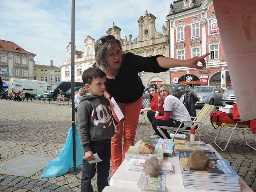
M 142 140 L 138 140 L 136 145 L 139 145 L 141 141 Z M 215 152 L 218 158 L 222 159 L 220 154 L 212 147 L 212 145 L 206 144 L 206 146 L 211 148 L 211 151 Z M 170 161 L 173 166 L 172 175 L 165 175 L 165 191 L 166 192 L 172 192 L 172 191 L 212 192 L 212 191 L 199 190 L 199 189 L 185 189 L 183 187 L 182 178 L 181 178 L 179 157 L 178 156 L 164 157 L 164 160 Z M 124 192 L 140 191 L 140 189 L 137 186 L 137 182 L 140 178 L 141 172 L 128 171 L 127 166 L 128 166 L 128 162 L 124 160 L 122 164 L 119 166 L 119 168 L 116 170 L 115 174 L 111 177 L 109 182 L 110 187 L 106 188 L 105 192 L 107 192 L 111 188 L 113 189 L 112 191 L 124 191 Z M 252 192 L 252 189 L 244 182 L 244 180 L 241 179 L 241 177 L 239 177 L 238 180 L 239 180 L 239 184 L 242 192 L 247 192 L 247 191 Z M 143 191 L 147 191 L 147 190 L 143 190 Z

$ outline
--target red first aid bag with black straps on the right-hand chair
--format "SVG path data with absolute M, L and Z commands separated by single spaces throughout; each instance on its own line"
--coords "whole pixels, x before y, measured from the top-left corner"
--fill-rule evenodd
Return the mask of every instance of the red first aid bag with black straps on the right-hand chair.
M 210 114 L 210 120 L 212 126 L 217 129 L 219 126 L 229 126 L 234 127 L 236 125 L 236 121 L 233 119 L 233 115 L 231 113 L 225 113 L 222 111 L 214 111 Z M 215 127 L 213 124 L 218 125 Z M 237 127 L 249 128 L 249 122 L 240 122 Z

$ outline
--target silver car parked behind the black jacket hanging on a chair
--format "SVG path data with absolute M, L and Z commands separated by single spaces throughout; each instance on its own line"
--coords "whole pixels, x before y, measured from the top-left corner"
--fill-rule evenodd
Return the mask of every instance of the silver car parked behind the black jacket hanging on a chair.
M 196 93 L 199 97 L 199 101 L 196 102 L 195 106 L 204 106 L 205 104 L 210 105 L 222 105 L 222 95 L 224 90 L 219 86 L 198 86 L 191 90 Z M 180 97 L 183 102 L 184 95 Z

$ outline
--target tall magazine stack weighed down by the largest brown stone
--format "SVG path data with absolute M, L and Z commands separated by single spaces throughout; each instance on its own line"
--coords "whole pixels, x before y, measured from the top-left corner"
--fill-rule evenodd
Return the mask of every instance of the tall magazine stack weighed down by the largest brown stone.
M 210 159 L 206 170 L 190 170 L 188 158 L 180 158 L 180 170 L 184 188 L 212 191 L 237 191 L 241 188 L 238 175 L 226 159 Z

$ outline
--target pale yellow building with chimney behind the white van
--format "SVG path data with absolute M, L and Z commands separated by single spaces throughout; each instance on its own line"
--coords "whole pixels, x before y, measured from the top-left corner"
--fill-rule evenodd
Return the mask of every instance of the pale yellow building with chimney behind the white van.
M 50 85 L 54 85 L 55 83 L 61 81 L 60 67 L 53 66 L 52 60 L 50 60 L 50 66 L 34 64 L 33 80 L 45 81 Z

